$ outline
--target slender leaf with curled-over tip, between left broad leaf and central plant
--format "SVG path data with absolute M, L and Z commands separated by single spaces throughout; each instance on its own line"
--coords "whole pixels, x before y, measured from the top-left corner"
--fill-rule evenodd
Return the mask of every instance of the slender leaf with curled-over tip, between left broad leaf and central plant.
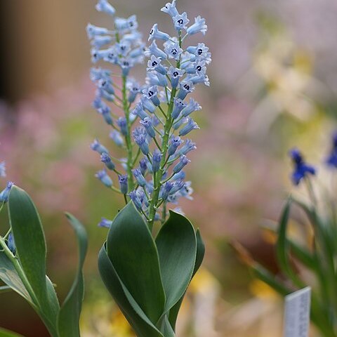
M 65 302 L 60 309 L 60 316 L 58 317 L 58 329 L 60 337 L 77 337 L 79 336 L 79 316 L 81 313 L 82 300 L 84 296 L 84 277 L 82 268 L 84 265 L 84 259 L 86 257 L 86 251 L 88 248 L 88 238 L 86 230 L 83 225 L 69 213 L 66 213 L 70 224 L 72 225 L 77 237 L 79 245 L 79 265 L 77 268 L 77 274 L 72 284 Z

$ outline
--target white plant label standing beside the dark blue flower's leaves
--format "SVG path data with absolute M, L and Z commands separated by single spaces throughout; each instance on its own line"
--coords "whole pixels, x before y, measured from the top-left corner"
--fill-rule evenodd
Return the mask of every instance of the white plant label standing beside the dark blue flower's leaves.
M 308 337 L 310 296 L 310 286 L 286 296 L 284 307 L 284 337 Z

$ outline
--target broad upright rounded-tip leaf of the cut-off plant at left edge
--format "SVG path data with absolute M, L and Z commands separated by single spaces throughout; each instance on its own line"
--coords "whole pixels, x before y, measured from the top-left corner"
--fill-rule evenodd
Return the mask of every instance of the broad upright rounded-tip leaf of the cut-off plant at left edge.
M 8 199 L 8 213 L 16 253 L 39 315 L 52 335 L 57 336 L 56 319 L 60 309 L 55 291 L 46 279 L 46 240 L 37 209 L 29 195 L 13 186 Z

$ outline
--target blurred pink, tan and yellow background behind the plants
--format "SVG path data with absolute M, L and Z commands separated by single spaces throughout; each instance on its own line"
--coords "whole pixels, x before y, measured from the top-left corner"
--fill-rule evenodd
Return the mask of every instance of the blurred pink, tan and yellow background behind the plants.
M 86 24 L 110 25 L 107 16 L 95 12 L 95 2 L 0 1 L 0 160 L 41 213 L 48 275 L 61 299 L 77 260 L 63 211 L 86 225 L 90 247 L 82 335 L 128 337 L 133 334 L 96 267 L 106 235 L 97 223 L 101 216 L 113 218 L 122 200 L 93 177 L 101 166 L 89 149 L 97 136 L 108 141 L 107 126 L 91 107 L 94 88 L 88 79 Z M 171 32 L 169 16 L 159 11 L 165 2 L 111 1 L 119 16 L 138 15 L 145 37 L 154 22 Z M 198 148 L 187 169 L 194 201 L 181 205 L 201 228 L 206 258 L 184 302 L 178 336 L 282 336 L 282 299 L 249 275 L 228 243 L 238 240 L 278 272 L 273 238 L 260 225 L 277 220 L 292 188 L 289 147 L 300 147 L 318 164 L 329 150 L 337 112 L 337 2 L 177 3 L 190 19 L 206 18 L 209 32 L 202 40 L 213 59 L 211 87 L 196 92 L 203 106 L 196 114 L 201 130 L 192 135 Z M 142 67 L 136 74 L 143 81 Z M 5 218 L 1 215 L 1 232 Z M 27 337 L 48 336 L 14 293 L 1 294 L 0 326 Z

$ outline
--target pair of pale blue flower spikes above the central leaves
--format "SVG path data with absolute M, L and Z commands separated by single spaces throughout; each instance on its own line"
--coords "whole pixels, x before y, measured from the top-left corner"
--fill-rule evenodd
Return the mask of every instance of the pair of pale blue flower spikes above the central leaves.
M 114 17 L 115 10 L 106 0 L 100 0 L 96 8 L 112 15 L 114 29 L 88 25 L 92 61 L 117 65 L 121 85 L 112 80 L 114 73 L 110 70 L 93 68 L 91 79 L 98 87 L 93 106 L 112 127 L 110 138 L 127 153 L 125 159 L 116 159 L 95 140 L 91 148 L 105 164 L 96 177 L 124 194 L 126 202 L 131 199 L 152 228 L 154 220 L 166 219 L 168 203 L 178 204 L 181 197 L 191 198 L 191 183 L 185 181 L 183 169 L 190 163 L 188 152 L 196 145 L 184 138 L 199 128 L 191 114 L 201 106 L 189 95 L 198 84 L 209 86 L 206 67 L 211 53 L 204 43 L 186 47 L 184 41 L 193 34 L 206 34 L 207 26 L 200 16 L 190 25 L 187 13 L 179 13 L 173 0 L 161 11 L 171 16 L 175 36 L 161 32 L 155 24 L 148 38 L 150 46 L 145 48 L 135 15 L 128 19 Z M 101 50 L 106 44 L 112 46 Z M 140 86 L 129 73 L 145 57 L 147 76 Z M 123 115 L 112 113 L 106 101 L 123 110 Z M 119 187 L 114 187 L 108 171 L 118 175 Z M 100 225 L 108 227 L 110 220 L 103 218 Z

